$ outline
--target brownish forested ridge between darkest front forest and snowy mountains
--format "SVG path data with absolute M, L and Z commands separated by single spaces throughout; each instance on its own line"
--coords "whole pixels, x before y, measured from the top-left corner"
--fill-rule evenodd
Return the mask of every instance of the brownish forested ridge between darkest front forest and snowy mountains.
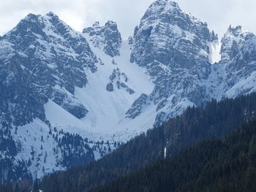
M 255 111 L 256 93 L 189 107 L 99 161 L 44 177 L 40 188 L 44 192 L 89 191 L 163 159 L 165 148 L 170 157 L 204 140 L 222 138 L 254 118 Z

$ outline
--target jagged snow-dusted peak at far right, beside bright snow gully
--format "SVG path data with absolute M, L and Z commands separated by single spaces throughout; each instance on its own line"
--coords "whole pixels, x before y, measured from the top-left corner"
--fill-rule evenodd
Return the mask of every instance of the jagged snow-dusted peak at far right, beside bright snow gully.
M 228 28 L 222 39 L 222 61 L 225 69 L 225 96 L 235 97 L 255 91 L 256 82 L 256 38 L 241 26 Z

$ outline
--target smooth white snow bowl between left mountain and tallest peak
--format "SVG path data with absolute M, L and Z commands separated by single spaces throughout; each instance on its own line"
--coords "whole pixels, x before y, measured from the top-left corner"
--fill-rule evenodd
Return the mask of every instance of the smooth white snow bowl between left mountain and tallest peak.
M 89 36 L 83 35 L 89 39 Z M 100 47 L 92 45 L 90 47 L 104 65 L 97 64 L 97 72 L 94 73 L 85 69 L 88 79 L 86 87 L 75 88 L 75 97 L 89 110 L 89 113 L 85 118 L 78 119 L 58 104 L 48 101 L 45 104 L 45 115 L 51 125 L 89 139 L 100 141 L 104 138 L 104 140 L 122 142 L 152 128 L 156 115 L 155 109 L 147 110 L 135 120 L 125 118 L 125 113 L 135 99 L 138 99 L 142 93 L 151 93 L 154 88 L 154 83 L 146 74 L 146 69 L 130 63 L 128 42 L 122 42 L 120 55 L 114 58 L 103 53 Z M 112 64 L 113 60 L 116 65 Z M 127 75 L 126 84 L 135 93 L 129 94 L 125 89 L 118 89 L 115 85 L 112 92 L 107 91 L 106 85 L 110 82 L 110 75 L 114 69 L 120 69 Z

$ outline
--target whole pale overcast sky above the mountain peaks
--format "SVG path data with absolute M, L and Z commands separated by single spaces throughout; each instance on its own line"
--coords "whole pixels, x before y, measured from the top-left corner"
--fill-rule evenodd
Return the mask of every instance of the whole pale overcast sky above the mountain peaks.
M 55 12 L 77 31 L 98 20 L 118 23 L 122 37 L 127 39 L 138 25 L 147 7 L 154 0 L 0 0 L 0 34 L 12 29 L 28 15 Z M 177 0 L 181 9 L 206 21 L 220 36 L 227 27 L 241 25 L 256 34 L 255 0 Z

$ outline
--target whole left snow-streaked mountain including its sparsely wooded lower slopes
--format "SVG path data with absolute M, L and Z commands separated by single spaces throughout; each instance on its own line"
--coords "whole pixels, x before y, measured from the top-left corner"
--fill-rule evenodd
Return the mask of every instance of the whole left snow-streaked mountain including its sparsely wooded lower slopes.
M 1 183 L 93 161 L 114 147 L 89 140 L 80 120 L 89 110 L 75 91 L 99 62 L 83 34 L 52 12 L 29 14 L 2 37 L 0 59 Z

